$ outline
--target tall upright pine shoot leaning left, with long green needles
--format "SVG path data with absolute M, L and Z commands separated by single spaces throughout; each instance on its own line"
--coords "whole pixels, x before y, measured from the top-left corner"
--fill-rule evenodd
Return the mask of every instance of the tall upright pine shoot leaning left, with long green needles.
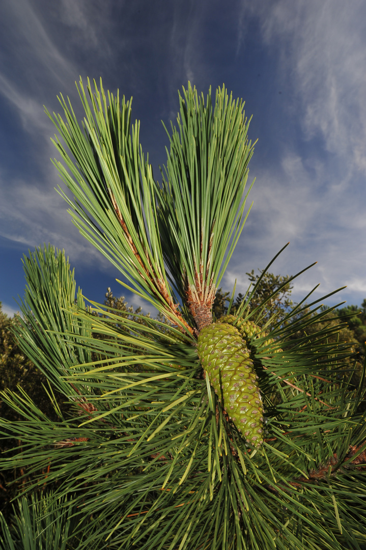
M 47 111 L 60 138 L 52 140 L 63 162 L 53 161 L 74 200 L 59 188 L 80 232 L 123 273 L 132 292 L 192 335 L 169 289 L 155 205 L 152 168 L 142 154 L 140 124 L 131 131 L 131 101 L 120 101 L 102 81 L 77 87 L 85 110 L 82 125 L 62 96 L 64 119 Z M 87 98 L 86 92 L 89 96 Z M 91 105 L 90 105 L 91 103 Z M 82 126 L 82 127 L 81 127 Z M 132 135 L 131 135 L 132 134 Z M 124 284 L 124 283 L 123 283 Z

